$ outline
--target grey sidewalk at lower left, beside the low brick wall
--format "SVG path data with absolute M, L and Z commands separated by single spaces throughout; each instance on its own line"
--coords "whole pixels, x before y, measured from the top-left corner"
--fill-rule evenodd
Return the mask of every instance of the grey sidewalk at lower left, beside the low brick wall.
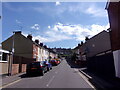
M 2 85 L 0 85 L 0 87 L 21 79 L 20 75 L 22 75 L 22 74 L 25 74 L 25 72 L 19 73 L 16 75 L 12 75 L 12 76 L 3 76 L 3 77 L 1 76 L 0 79 L 2 79 Z

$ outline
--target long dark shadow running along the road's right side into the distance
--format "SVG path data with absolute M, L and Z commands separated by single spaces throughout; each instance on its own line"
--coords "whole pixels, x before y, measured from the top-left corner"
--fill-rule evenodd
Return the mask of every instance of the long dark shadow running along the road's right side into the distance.
M 79 72 L 82 71 L 86 75 L 89 75 L 91 78 L 88 78 L 89 82 L 95 87 L 97 90 L 106 90 L 108 88 L 120 88 L 120 79 L 118 78 L 110 78 L 109 76 L 103 76 L 100 73 L 89 71 L 86 67 L 75 64 L 73 61 L 66 59 L 68 65 L 71 68 L 79 69 Z M 74 73 L 77 73 L 75 71 Z M 83 73 L 82 73 L 83 74 Z M 84 75 L 84 74 L 83 74 Z

